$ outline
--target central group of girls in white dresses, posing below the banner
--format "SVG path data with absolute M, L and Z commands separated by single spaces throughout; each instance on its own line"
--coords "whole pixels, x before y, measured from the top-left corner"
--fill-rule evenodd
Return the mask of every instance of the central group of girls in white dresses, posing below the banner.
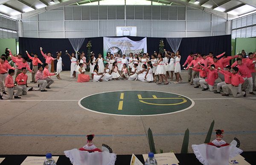
M 67 52 L 66 52 L 67 53 Z M 68 54 L 68 53 L 67 53 Z M 88 82 L 90 80 L 89 75 L 84 74 L 87 65 L 90 65 L 90 74 L 93 82 L 108 81 L 108 80 L 140 80 L 143 82 L 155 82 L 157 84 L 164 83 L 169 84 L 169 71 L 173 78 L 173 73 L 177 77 L 177 82 L 180 83 L 182 78 L 180 76 L 180 52 L 176 54 L 165 51 L 165 57 L 161 53 L 154 52 L 151 58 L 147 53 L 143 53 L 142 56 L 138 54 L 129 54 L 127 59 L 125 54 L 107 54 L 106 58 L 102 57 L 102 54 L 98 54 L 98 58 L 94 57 L 94 53 L 91 52 L 90 60 L 87 63 L 86 57 L 83 53 L 80 55 L 76 68 L 75 54 L 68 54 L 71 60 L 70 74 L 72 77 L 76 77 L 76 71 L 78 71 L 78 82 Z M 169 58 L 170 63 L 169 63 Z M 105 64 L 104 64 L 105 62 Z M 166 75 L 166 73 L 168 73 Z M 167 76 L 167 77 L 166 77 Z M 158 81 L 157 81 L 158 80 Z M 164 82 L 163 82 L 164 81 Z

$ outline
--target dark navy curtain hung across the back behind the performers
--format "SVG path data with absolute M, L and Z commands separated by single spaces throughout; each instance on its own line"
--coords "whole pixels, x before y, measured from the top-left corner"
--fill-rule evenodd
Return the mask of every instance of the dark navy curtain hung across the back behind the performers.
M 120 37 L 111 37 L 111 38 L 120 38 Z M 123 38 L 123 37 L 121 37 Z M 127 36 L 128 39 L 132 41 L 140 41 L 146 39 L 147 49 L 144 49 L 144 52 L 148 52 L 149 54 L 153 54 L 154 51 L 159 51 L 159 41 L 163 39 L 164 45 L 167 51 L 172 51 L 169 46 L 166 38 L 156 38 L 156 37 L 131 37 Z M 103 51 L 103 37 L 93 37 L 93 38 L 85 38 L 82 47 L 79 49 L 79 52 L 84 51 L 87 53 L 86 44 L 91 40 L 93 51 L 98 57 L 98 54 L 106 54 Z M 25 38 L 19 37 L 19 52 L 26 56 L 25 51 L 34 52 L 39 55 L 40 60 L 45 62 L 44 58 L 40 53 L 40 47 L 43 47 L 44 52 L 52 52 L 53 57 L 56 57 L 56 51 L 62 51 L 62 61 L 64 63 L 63 70 L 70 70 L 70 59 L 67 55 L 64 55 L 64 52 L 67 50 L 70 53 L 74 52 L 69 40 L 65 39 L 49 39 L 49 38 Z M 228 56 L 234 55 L 231 54 L 231 35 L 223 35 L 223 36 L 214 36 L 214 37 L 191 37 L 191 38 L 182 38 L 180 43 L 181 52 L 181 60 L 180 63 L 183 64 L 186 61 L 189 53 L 192 51 L 193 53 L 200 52 L 201 54 L 209 54 L 210 51 L 213 52 L 214 55 L 221 54 L 226 51 Z M 87 59 L 89 60 L 89 59 Z M 56 63 L 56 61 L 55 61 Z M 56 65 L 55 65 L 56 67 Z

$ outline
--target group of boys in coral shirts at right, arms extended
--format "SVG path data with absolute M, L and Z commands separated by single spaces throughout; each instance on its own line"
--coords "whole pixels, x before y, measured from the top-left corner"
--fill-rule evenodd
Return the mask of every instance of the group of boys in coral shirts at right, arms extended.
M 230 60 L 235 58 L 235 63 L 230 66 Z M 218 56 L 213 56 L 212 52 L 207 56 L 190 53 L 183 67 L 186 64 L 188 65 L 184 69 L 188 70 L 189 85 L 194 83 L 194 88 L 201 86 L 202 91 L 209 89 L 215 94 L 220 94 L 222 89 L 222 96 L 229 96 L 232 93 L 233 97 L 246 97 L 245 89 L 248 87 L 249 93 L 255 95 L 253 90 L 256 90 L 256 53 L 249 53 L 248 57 L 242 54 L 227 56 L 225 52 Z M 215 80 L 218 78 L 221 79 L 221 83 L 218 83 L 217 90 L 214 90 Z

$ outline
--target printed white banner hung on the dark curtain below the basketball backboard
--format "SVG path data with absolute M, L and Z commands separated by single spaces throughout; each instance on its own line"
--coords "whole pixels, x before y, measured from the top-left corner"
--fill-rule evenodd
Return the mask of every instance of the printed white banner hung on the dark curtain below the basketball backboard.
M 140 41 L 133 41 L 127 37 L 103 37 L 103 53 L 104 57 L 110 54 L 125 54 L 128 57 L 129 53 L 146 53 L 147 38 Z

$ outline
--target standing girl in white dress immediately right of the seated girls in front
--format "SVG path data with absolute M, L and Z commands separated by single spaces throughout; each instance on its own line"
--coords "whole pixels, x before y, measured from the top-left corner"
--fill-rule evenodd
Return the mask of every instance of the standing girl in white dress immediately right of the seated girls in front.
M 159 60 L 155 64 L 157 66 L 157 70 L 155 72 L 155 75 L 159 75 L 160 80 L 157 84 L 161 84 L 163 79 L 164 79 L 165 80 L 164 84 L 167 85 L 167 84 L 169 84 L 169 82 L 167 81 L 167 78 L 165 76 L 166 70 L 165 70 L 165 66 L 164 66 L 164 63 L 163 63 L 162 53 L 158 54 L 158 59 Z

